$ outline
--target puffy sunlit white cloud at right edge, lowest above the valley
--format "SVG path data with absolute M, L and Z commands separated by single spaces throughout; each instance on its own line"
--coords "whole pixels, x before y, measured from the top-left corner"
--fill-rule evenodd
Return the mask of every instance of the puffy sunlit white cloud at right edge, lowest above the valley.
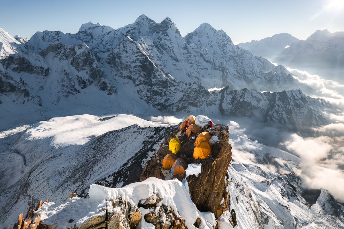
M 320 130 L 334 130 L 330 125 Z M 300 156 L 302 161 L 299 168 L 294 168 L 294 172 L 302 178 L 307 187 L 326 189 L 344 201 L 344 171 L 341 169 L 344 165 L 343 137 L 303 138 L 292 134 L 283 145 Z

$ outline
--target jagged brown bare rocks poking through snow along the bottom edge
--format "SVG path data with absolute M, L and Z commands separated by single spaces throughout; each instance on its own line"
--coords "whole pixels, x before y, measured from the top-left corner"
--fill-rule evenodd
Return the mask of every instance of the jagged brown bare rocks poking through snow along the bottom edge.
M 73 197 L 71 196 L 76 197 L 70 193 L 68 194 L 69 200 L 72 200 Z M 136 205 L 132 200 L 118 196 L 116 199 L 109 199 L 108 204 L 111 206 L 97 209 L 97 214 L 91 217 L 85 216 L 87 219 L 82 223 L 76 222 L 74 219 L 69 219 L 68 223 L 73 225 L 74 229 L 132 229 L 137 228 L 143 217 L 146 222 L 151 223 L 157 229 L 169 229 L 171 227 L 173 229 L 187 229 L 184 219 L 180 215 L 177 216 L 171 207 L 159 204 L 162 199 L 158 197 L 158 194 L 153 194 L 147 199 L 141 199 Z M 25 219 L 23 219 L 23 213 L 20 214 L 18 223 L 13 226 L 13 229 L 53 229 L 64 224 L 64 222 L 51 223 L 44 219 L 41 220 L 42 213 L 37 211 L 41 206 L 42 200 L 35 210 L 31 209 L 30 206 Z M 139 208 L 148 209 L 148 212 L 143 216 Z M 156 208 L 159 210 L 156 211 Z M 162 220 L 162 217 L 165 220 Z

